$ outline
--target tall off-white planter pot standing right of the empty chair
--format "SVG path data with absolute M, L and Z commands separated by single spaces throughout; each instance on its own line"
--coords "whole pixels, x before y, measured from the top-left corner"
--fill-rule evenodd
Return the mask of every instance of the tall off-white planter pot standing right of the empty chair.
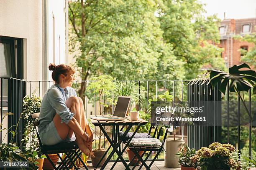
M 184 140 L 182 139 L 166 139 L 165 140 L 165 156 L 164 156 L 164 166 L 168 168 L 180 168 L 178 164 L 179 159 L 177 158 L 177 153 L 179 147 L 183 146 Z

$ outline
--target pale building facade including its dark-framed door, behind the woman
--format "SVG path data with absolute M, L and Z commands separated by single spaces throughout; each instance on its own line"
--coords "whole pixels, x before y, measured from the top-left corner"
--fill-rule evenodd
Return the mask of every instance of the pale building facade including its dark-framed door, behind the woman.
M 51 80 L 48 65 L 67 62 L 67 42 L 68 0 L 0 0 L 0 77 Z M 4 116 L 8 107 L 8 81 L 1 79 L 0 83 L 1 116 L 2 111 Z M 31 84 L 32 89 L 38 87 L 37 82 L 34 87 Z M 49 85 L 42 83 L 37 94 L 42 97 Z M 3 128 L 7 121 L 4 120 Z

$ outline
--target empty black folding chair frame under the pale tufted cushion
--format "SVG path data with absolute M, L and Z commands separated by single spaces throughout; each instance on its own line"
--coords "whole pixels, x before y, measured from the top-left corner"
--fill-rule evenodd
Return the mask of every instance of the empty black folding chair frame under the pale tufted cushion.
M 155 126 L 154 126 L 154 125 L 151 125 L 151 126 L 150 126 L 150 129 L 149 129 L 149 132 L 148 132 L 148 135 L 150 135 L 151 130 L 152 130 L 153 128 L 155 128 Z M 130 166 L 130 164 L 133 162 L 134 158 L 136 158 L 136 157 L 138 158 L 138 160 L 137 160 L 137 162 L 135 163 L 135 165 L 133 166 L 133 169 L 132 169 L 132 170 L 134 170 L 134 169 L 136 168 L 136 165 L 138 165 L 138 163 L 139 163 L 140 161 L 141 161 L 141 166 L 138 168 L 138 170 L 140 170 L 140 169 L 143 167 L 143 165 L 144 165 L 144 167 L 145 167 L 147 170 L 150 170 L 150 167 L 153 165 L 153 163 L 154 163 L 154 161 L 156 160 L 156 158 L 158 157 L 158 155 L 164 150 L 164 142 L 165 142 L 166 137 L 167 137 L 167 134 L 168 134 L 169 126 L 165 127 L 164 125 L 161 125 L 160 128 L 159 128 L 159 132 L 162 130 L 162 128 L 165 128 L 166 131 L 165 131 L 163 140 L 161 140 L 162 145 L 161 145 L 160 147 L 152 147 L 152 146 L 141 146 L 141 147 L 136 146 L 136 147 L 131 147 L 131 146 L 129 146 L 129 149 L 130 149 L 131 151 L 133 151 L 133 153 L 134 153 L 135 155 L 134 155 L 133 159 L 131 160 L 131 162 L 128 164 L 128 166 Z M 156 126 L 156 129 L 155 129 L 155 131 L 154 131 L 154 135 L 153 135 L 152 137 L 159 139 L 161 133 L 156 134 L 156 132 L 157 132 L 157 126 Z M 157 135 L 157 136 L 156 136 L 156 135 Z M 139 151 L 144 151 L 141 156 L 138 154 Z M 143 160 L 143 156 L 145 155 L 145 153 L 146 153 L 147 151 L 148 151 L 149 153 L 148 153 L 148 155 L 146 156 L 146 158 Z M 148 160 L 149 156 L 151 155 L 151 153 L 152 153 L 153 151 L 156 152 L 156 155 L 155 155 L 155 157 L 153 158 L 153 160 L 151 160 L 151 163 L 150 163 L 149 165 L 147 165 L 147 164 L 146 164 L 146 161 Z

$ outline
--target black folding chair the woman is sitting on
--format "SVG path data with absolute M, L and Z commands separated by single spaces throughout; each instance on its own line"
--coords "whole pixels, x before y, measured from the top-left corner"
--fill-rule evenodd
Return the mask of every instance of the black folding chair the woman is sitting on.
M 88 170 L 88 168 L 84 164 L 82 158 L 80 157 L 82 152 L 79 150 L 79 147 L 77 146 L 77 144 L 74 141 L 59 143 L 59 144 L 56 144 L 56 145 L 49 145 L 49 146 L 48 145 L 42 145 L 40 136 L 38 134 L 38 130 L 36 128 L 39 125 L 39 122 L 38 122 L 39 114 L 40 113 L 31 114 L 31 119 L 33 120 L 34 128 L 36 129 L 36 135 L 37 135 L 37 138 L 39 140 L 39 145 L 40 145 L 41 152 L 44 155 L 46 155 L 46 157 L 49 160 L 49 162 L 51 163 L 52 167 L 55 170 L 61 170 L 61 169 L 66 170 L 66 169 L 69 169 L 73 166 L 74 169 L 78 170 L 77 166 L 74 163 L 74 160 L 79 159 L 81 161 L 82 165 L 84 166 L 84 168 L 86 170 Z M 64 159 L 62 159 L 61 156 L 59 155 L 59 153 L 65 153 L 66 157 Z M 54 165 L 54 163 L 52 162 L 52 160 L 48 156 L 48 154 L 57 154 L 58 155 L 61 162 L 57 167 Z

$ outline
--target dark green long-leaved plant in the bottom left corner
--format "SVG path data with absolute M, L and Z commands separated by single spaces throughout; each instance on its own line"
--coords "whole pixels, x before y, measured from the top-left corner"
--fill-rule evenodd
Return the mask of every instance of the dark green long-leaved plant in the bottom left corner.
M 13 115 L 13 113 L 7 113 L 6 115 L 4 115 L 3 117 L 3 120 L 5 119 L 6 116 L 8 115 Z M 20 115 L 21 117 L 21 115 Z M 2 121 L 3 122 L 3 121 Z M 0 124 L 0 132 L 3 131 L 4 129 L 2 128 L 3 127 L 3 123 L 1 122 Z M 8 133 L 11 133 L 12 134 L 12 138 L 10 140 L 9 143 L 2 143 L 0 145 L 0 162 L 2 161 L 8 161 L 8 162 L 13 162 L 13 161 L 24 161 L 24 162 L 28 162 L 28 168 L 20 168 L 22 170 L 34 170 L 34 169 L 37 169 L 35 167 L 35 161 L 34 161 L 34 156 L 32 153 L 28 152 L 28 151 L 22 151 L 19 149 L 19 147 L 13 143 L 13 139 L 15 137 L 15 135 L 17 134 L 17 127 L 18 127 L 18 124 L 20 122 L 20 118 L 18 120 L 18 123 L 17 125 L 13 125 L 13 126 L 16 126 L 15 128 L 15 131 L 11 130 L 5 134 L 5 137 Z M 4 137 L 4 138 L 5 138 Z M 4 140 L 3 138 L 3 140 Z

